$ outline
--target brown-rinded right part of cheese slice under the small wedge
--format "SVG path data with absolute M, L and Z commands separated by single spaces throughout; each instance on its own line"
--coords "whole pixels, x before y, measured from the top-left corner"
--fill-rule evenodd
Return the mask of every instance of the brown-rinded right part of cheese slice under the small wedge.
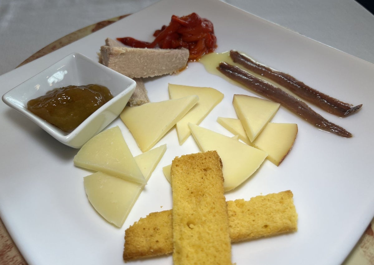
M 252 144 L 267 152 L 269 154 L 267 159 L 279 166 L 291 150 L 296 135 L 295 123 L 268 123 Z

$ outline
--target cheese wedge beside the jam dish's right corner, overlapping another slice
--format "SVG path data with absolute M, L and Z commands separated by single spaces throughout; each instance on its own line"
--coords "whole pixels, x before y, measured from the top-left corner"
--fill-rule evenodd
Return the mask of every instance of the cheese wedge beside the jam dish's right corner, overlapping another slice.
M 120 114 L 141 151 L 150 150 L 199 100 L 196 95 L 125 107 Z

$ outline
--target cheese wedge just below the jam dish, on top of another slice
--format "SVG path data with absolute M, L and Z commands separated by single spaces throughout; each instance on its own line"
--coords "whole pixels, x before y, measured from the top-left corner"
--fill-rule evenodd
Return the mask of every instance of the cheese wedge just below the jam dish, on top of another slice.
M 75 155 L 74 164 L 129 181 L 147 183 L 118 126 L 86 142 Z

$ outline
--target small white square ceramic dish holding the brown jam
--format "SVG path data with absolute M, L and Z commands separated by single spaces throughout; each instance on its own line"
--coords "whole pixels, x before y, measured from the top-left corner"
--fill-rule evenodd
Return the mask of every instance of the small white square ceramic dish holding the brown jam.
M 88 84 L 107 87 L 113 98 L 71 132 L 62 131 L 27 109 L 29 100 L 43 96 L 50 90 Z M 30 118 L 58 141 L 73 148 L 80 148 L 121 113 L 135 87 L 136 83 L 131 78 L 92 61 L 80 53 L 71 53 L 5 93 L 2 99 L 5 104 Z

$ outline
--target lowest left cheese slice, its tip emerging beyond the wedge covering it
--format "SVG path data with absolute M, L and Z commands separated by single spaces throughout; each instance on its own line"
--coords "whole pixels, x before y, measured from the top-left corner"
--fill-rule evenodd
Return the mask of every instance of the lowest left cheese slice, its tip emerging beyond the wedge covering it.
M 135 157 L 146 181 L 165 153 L 162 145 Z M 122 227 L 129 212 L 144 188 L 144 184 L 125 181 L 102 172 L 83 178 L 88 200 L 108 222 Z

